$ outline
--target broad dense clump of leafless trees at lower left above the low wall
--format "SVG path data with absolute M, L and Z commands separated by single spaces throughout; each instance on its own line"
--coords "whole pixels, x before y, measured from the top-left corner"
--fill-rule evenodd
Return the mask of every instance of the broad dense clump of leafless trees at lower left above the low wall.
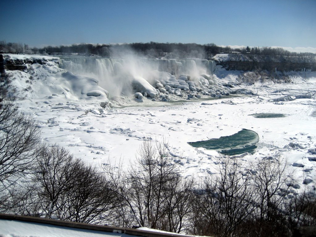
M 120 204 L 99 168 L 75 159 L 66 149 L 38 149 L 34 176 L 42 216 L 84 223 L 112 223 Z

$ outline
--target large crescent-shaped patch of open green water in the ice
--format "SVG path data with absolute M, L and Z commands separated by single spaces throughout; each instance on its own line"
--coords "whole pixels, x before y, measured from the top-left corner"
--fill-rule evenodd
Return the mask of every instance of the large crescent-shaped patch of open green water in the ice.
M 256 132 L 248 129 L 226 137 L 210 139 L 199 142 L 189 142 L 193 147 L 203 147 L 208 150 L 217 150 L 224 155 L 240 155 L 245 152 L 256 152 L 259 136 Z

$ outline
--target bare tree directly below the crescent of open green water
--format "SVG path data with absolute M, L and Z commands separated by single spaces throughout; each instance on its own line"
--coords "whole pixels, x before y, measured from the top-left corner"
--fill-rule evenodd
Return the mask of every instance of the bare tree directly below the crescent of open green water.
M 243 236 L 244 222 L 253 211 L 253 185 L 247 169 L 236 157 L 223 157 L 218 175 L 202 185 L 199 209 L 203 235 Z

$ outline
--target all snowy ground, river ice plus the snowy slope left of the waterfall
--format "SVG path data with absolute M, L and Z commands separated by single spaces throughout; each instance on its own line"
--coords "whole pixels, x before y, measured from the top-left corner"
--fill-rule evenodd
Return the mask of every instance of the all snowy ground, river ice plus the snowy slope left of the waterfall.
M 307 185 L 315 185 L 316 74 L 313 72 L 292 72 L 294 83 L 266 82 L 234 88 L 258 95 L 185 100 L 186 97 L 169 94 L 170 101 L 144 97 L 143 103 L 116 98 L 121 106 L 112 102 L 112 107 L 105 108 L 100 102 L 107 101 L 107 88 L 98 86 L 94 79 L 65 72 L 52 61 L 46 65 L 33 64 L 26 72 L 9 73 L 14 78 L 9 93 L 18 98 L 16 103 L 22 110 L 39 121 L 43 139 L 64 146 L 87 162 L 99 165 L 123 160 L 126 168 L 135 159 L 144 138 L 150 137 L 153 142 L 168 142 L 170 155 L 174 162 L 180 160 L 185 177 L 204 177 L 217 172 L 219 154 L 194 148 L 188 142 L 249 129 L 259 136 L 258 148 L 253 155 L 240 155 L 240 159 L 247 164 L 280 154 L 287 160 L 289 171 L 294 172 L 297 184 L 302 187 L 303 180 L 310 179 Z M 218 68 L 212 78 L 236 82 L 238 74 Z M 30 80 L 30 75 L 36 79 Z M 301 94 L 309 94 L 310 98 L 274 101 L 290 95 L 294 99 Z M 254 113 L 283 113 L 285 117 L 249 116 Z

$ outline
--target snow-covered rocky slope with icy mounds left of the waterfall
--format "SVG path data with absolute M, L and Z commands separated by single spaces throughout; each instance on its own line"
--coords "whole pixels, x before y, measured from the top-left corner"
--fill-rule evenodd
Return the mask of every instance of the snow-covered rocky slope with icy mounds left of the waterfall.
M 108 101 L 108 92 L 98 86 L 98 81 L 87 76 L 77 76 L 59 68 L 58 59 L 48 56 L 6 55 L 4 60 L 23 60 L 24 70 L 6 70 L 9 98 L 56 100 Z M 34 61 L 35 60 L 35 61 Z M 50 101 L 46 101 L 50 103 Z

